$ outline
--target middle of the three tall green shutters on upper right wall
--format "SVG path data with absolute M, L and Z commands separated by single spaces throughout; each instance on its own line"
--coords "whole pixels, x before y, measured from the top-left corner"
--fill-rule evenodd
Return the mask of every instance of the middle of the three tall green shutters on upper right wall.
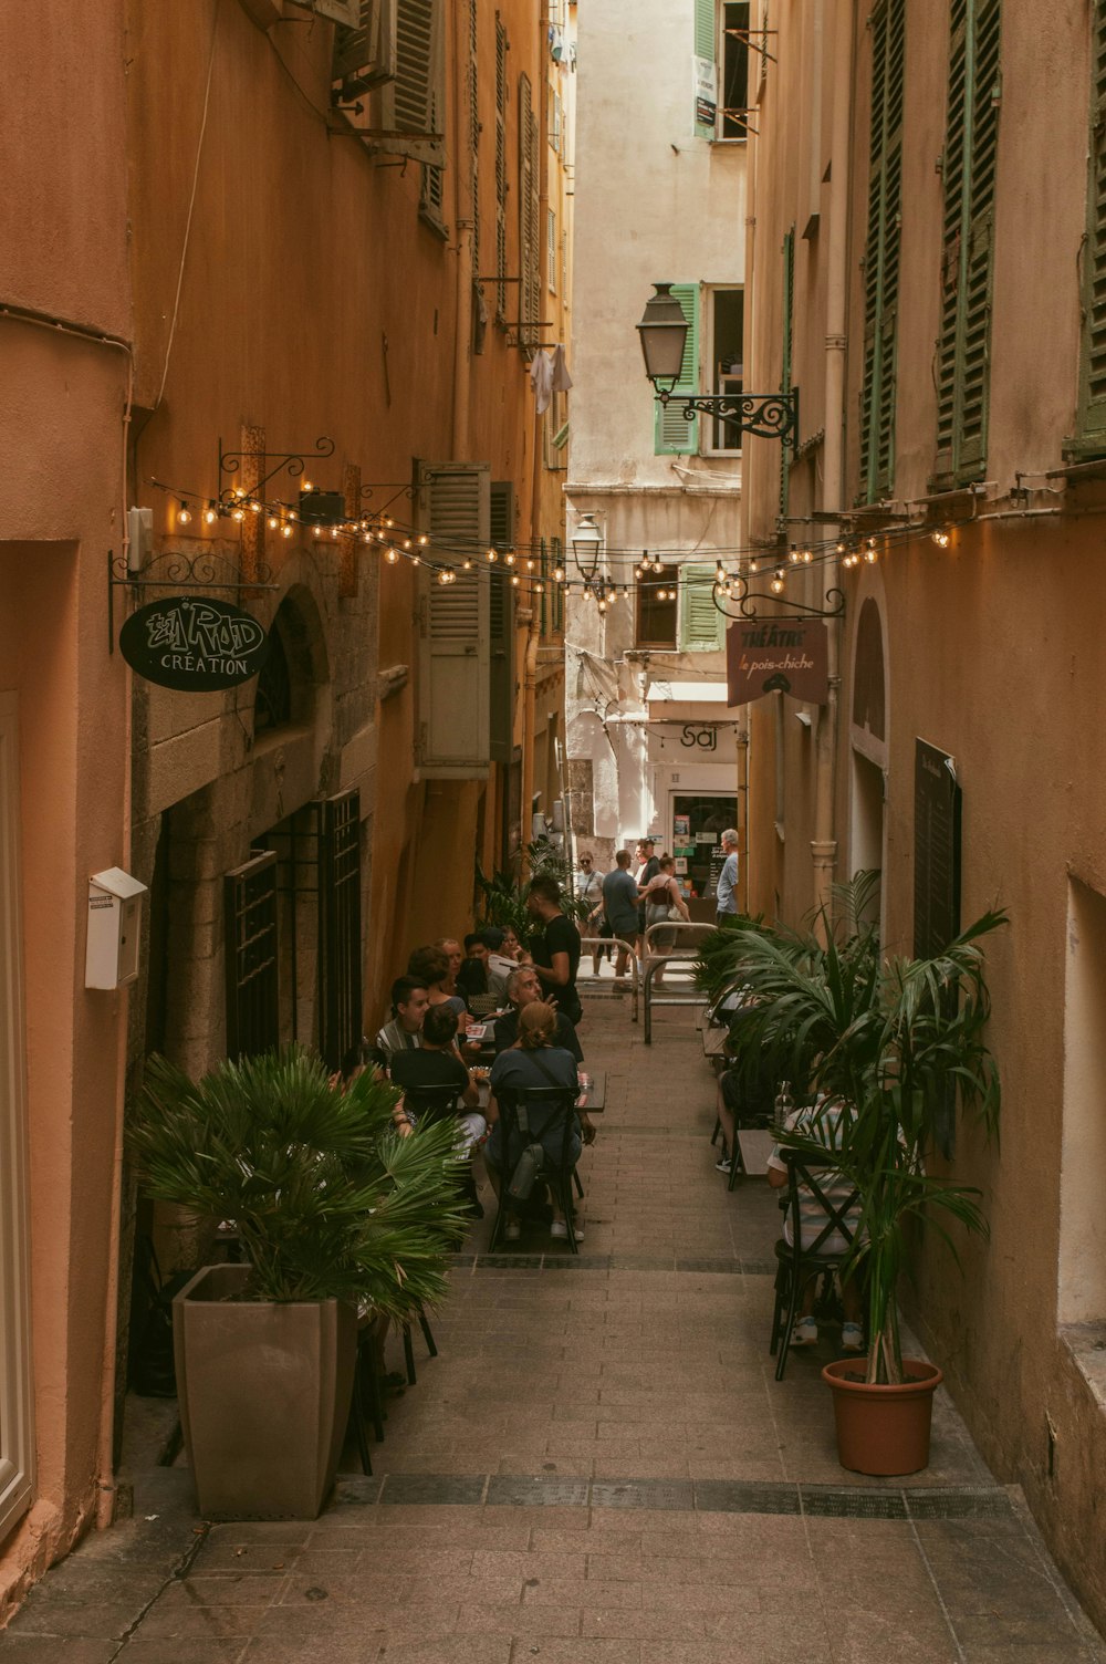
M 986 466 L 1000 12 L 1000 0 L 951 0 L 936 344 L 938 488 L 980 479 Z

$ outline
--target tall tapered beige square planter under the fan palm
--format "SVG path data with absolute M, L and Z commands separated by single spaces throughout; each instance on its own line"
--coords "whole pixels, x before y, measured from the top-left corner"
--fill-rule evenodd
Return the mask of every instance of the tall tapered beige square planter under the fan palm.
M 239 1300 L 246 1265 L 206 1266 L 173 1301 L 185 1449 L 208 1519 L 314 1519 L 338 1471 L 358 1351 L 339 1300 Z

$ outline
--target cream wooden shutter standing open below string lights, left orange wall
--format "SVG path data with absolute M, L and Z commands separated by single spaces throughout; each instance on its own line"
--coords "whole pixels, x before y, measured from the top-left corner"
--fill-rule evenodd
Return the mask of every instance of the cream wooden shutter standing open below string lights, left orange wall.
M 452 584 L 422 576 L 417 760 L 424 775 L 469 779 L 489 762 L 491 466 L 422 463 L 419 498 L 432 557 L 457 576 Z M 461 571 L 466 556 L 471 572 Z

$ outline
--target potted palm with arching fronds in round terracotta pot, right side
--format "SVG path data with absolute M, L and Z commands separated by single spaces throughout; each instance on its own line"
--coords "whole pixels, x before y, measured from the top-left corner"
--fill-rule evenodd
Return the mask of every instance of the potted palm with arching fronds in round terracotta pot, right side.
M 863 917 L 855 890 L 847 902 L 853 920 Z M 757 1002 L 737 1043 L 767 1047 L 780 1077 L 808 1082 L 835 1107 L 825 1120 L 813 1110 L 778 1128 L 780 1143 L 832 1160 L 862 1196 L 843 1275 L 863 1280 L 867 1361 L 845 1358 L 823 1369 L 835 1391 L 842 1464 L 862 1473 L 913 1473 L 928 1461 L 941 1373 L 903 1358 L 896 1303 L 915 1221 L 936 1230 L 953 1256 L 950 1225 L 986 1235 L 978 1190 L 928 1171 L 928 1163 L 951 1153 L 956 1108 L 988 1137 L 998 1127 L 980 942 L 1003 922 L 1001 912 L 986 912 L 926 960 L 883 962 L 871 927 L 838 943 L 825 920 L 820 937 L 737 932 L 730 950 L 733 973 Z M 710 973 L 715 983 L 723 973 L 718 952 Z M 911 1418 L 916 1424 L 898 1444 L 895 1424 Z

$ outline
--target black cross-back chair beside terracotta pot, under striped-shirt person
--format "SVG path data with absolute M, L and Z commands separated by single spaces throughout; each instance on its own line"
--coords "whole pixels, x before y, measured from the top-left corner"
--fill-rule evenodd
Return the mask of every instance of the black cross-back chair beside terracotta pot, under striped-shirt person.
M 773 1358 L 778 1353 L 775 1366 L 777 1381 L 783 1379 L 783 1371 L 787 1369 L 787 1351 L 792 1345 L 792 1330 L 795 1328 L 803 1290 L 812 1276 L 840 1271 L 857 1236 L 855 1215 L 860 1211 L 860 1191 L 848 1180 L 845 1181 L 848 1186 L 847 1195 L 842 1193 L 840 1200 L 830 1195 L 835 1185 L 842 1186 L 842 1191 L 845 1188 L 832 1156 L 825 1161 L 815 1161 L 798 1150 L 787 1148 L 780 1151 L 780 1156 L 787 1163 L 787 1198 L 780 1206 L 787 1213 L 792 1241 L 788 1243 L 782 1236 L 775 1245 L 775 1306 L 772 1311 L 772 1345 L 768 1351 Z M 805 1248 L 802 1230 L 803 1208 L 808 1215 L 817 1208 L 820 1215 L 818 1233 Z M 810 1220 L 807 1228 L 810 1230 Z M 842 1236 L 845 1248 L 827 1253 L 823 1245 L 835 1235 Z

